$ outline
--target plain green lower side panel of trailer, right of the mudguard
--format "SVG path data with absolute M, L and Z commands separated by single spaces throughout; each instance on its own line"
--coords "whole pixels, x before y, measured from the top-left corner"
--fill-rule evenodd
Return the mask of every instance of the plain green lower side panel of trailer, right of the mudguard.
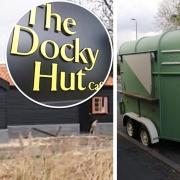
M 161 136 L 180 141 L 180 76 L 161 76 Z

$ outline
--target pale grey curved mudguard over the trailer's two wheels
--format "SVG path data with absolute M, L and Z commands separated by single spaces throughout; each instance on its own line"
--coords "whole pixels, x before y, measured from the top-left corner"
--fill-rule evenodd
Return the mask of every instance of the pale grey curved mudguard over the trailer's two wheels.
M 154 123 L 150 119 L 142 117 L 142 116 L 139 117 L 138 114 L 129 112 L 129 113 L 125 113 L 123 115 L 123 121 L 124 121 L 124 117 L 126 117 L 126 116 L 143 124 L 147 128 L 152 144 L 159 142 L 159 136 L 158 136 L 157 129 L 156 129 Z

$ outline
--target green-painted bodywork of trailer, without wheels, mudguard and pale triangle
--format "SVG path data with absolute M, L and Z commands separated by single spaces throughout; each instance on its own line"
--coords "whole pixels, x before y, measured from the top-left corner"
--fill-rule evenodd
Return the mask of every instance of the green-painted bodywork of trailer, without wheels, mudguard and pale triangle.
M 159 102 L 140 100 L 141 115 L 151 119 L 159 132 L 160 138 L 180 141 L 180 65 L 163 62 L 180 62 L 180 30 L 169 31 L 161 36 L 141 38 L 134 42 L 124 43 L 120 55 L 155 52 L 156 60 L 152 61 L 152 79 L 154 98 Z M 163 53 L 163 51 L 167 51 Z M 138 81 L 126 63 L 121 63 L 123 91 L 134 92 L 141 96 L 148 93 Z M 138 113 L 138 100 L 124 96 L 126 112 Z

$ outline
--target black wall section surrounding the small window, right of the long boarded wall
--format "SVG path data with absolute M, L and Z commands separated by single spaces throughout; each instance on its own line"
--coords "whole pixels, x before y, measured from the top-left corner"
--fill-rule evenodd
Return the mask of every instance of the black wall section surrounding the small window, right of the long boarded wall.
M 94 120 L 102 122 L 113 122 L 113 89 L 112 87 L 103 87 L 95 96 L 108 97 L 109 114 L 89 115 L 92 112 L 92 99 L 80 105 L 80 130 L 82 132 L 89 131 L 91 123 Z

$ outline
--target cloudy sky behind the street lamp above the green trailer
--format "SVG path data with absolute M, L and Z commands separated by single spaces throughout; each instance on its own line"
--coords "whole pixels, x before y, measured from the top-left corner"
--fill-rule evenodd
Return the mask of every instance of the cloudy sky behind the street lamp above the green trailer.
M 135 21 L 138 22 L 138 38 L 161 33 L 155 16 L 162 0 L 118 0 L 118 47 L 125 41 L 135 40 Z

